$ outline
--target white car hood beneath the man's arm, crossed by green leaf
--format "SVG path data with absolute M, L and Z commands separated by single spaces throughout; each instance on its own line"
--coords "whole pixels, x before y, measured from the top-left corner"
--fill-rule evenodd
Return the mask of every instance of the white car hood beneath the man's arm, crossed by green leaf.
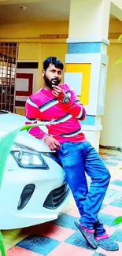
M 13 131 L 14 129 L 23 127 L 24 123 L 24 116 L 20 116 L 15 113 L 0 114 L 0 137 Z M 45 126 L 43 126 L 43 128 L 41 127 L 41 129 L 43 129 L 45 132 L 47 131 Z M 32 147 L 40 152 L 50 152 L 50 149 L 46 147 L 43 140 L 35 139 L 35 137 L 28 134 L 27 131 L 19 132 L 14 141 L 28 147 Z

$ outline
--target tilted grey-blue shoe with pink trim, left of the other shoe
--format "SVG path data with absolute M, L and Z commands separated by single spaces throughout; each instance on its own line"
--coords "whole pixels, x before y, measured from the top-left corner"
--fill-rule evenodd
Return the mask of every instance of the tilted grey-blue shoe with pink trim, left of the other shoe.
M 94 239 L 94 229 L 83 227 L 79 221 L 75 221 L 75 224 L 76 227 L 79 228 L 79 231 L 82 233 L 83 237 L 91 245 L 91 247 L 96 249 L 98 247 L 98 242 Z

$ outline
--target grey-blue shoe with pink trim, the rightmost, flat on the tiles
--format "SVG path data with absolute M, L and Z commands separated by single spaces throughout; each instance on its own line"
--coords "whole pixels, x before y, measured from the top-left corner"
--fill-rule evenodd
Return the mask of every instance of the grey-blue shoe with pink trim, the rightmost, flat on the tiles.
M 96 236 L 94 239 L 98 241 L 98 246 L 104 250 L 119 250 L 118 243 L 114 242 L 107 234 L 103 236 Z

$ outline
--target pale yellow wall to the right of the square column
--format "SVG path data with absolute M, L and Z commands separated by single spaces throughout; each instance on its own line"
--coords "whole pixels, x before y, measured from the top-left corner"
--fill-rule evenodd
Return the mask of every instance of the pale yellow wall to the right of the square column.
M 100 144 L 122 147 L 122 64 L 115 64 L 122 57 L 122 44 L 110 44 L 108 54 L 109 67 Z

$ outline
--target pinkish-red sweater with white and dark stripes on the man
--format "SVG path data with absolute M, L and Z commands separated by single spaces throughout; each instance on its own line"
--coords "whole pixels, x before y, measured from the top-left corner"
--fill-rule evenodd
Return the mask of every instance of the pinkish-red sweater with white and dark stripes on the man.
M 58 102 L 51 90 L 41 88 L 31 95 L 25 105 L 27 121 L 25 124 L 37 123 L 37 121 L 52 121 L 46 125 L 48 134 L 53 135 L 59 143 L 85 142 L 87 139 L 82 132 L 81 124 L 86 117 L 83 104 L 76 96 L 76 92 L 68 84 L 62 83 L 60 86 L 65 94 L 70 97 L 68 103 Z M 29 133 L 39 139 L 43 139 L 46 134 L 39 127 L 29 130 Z

